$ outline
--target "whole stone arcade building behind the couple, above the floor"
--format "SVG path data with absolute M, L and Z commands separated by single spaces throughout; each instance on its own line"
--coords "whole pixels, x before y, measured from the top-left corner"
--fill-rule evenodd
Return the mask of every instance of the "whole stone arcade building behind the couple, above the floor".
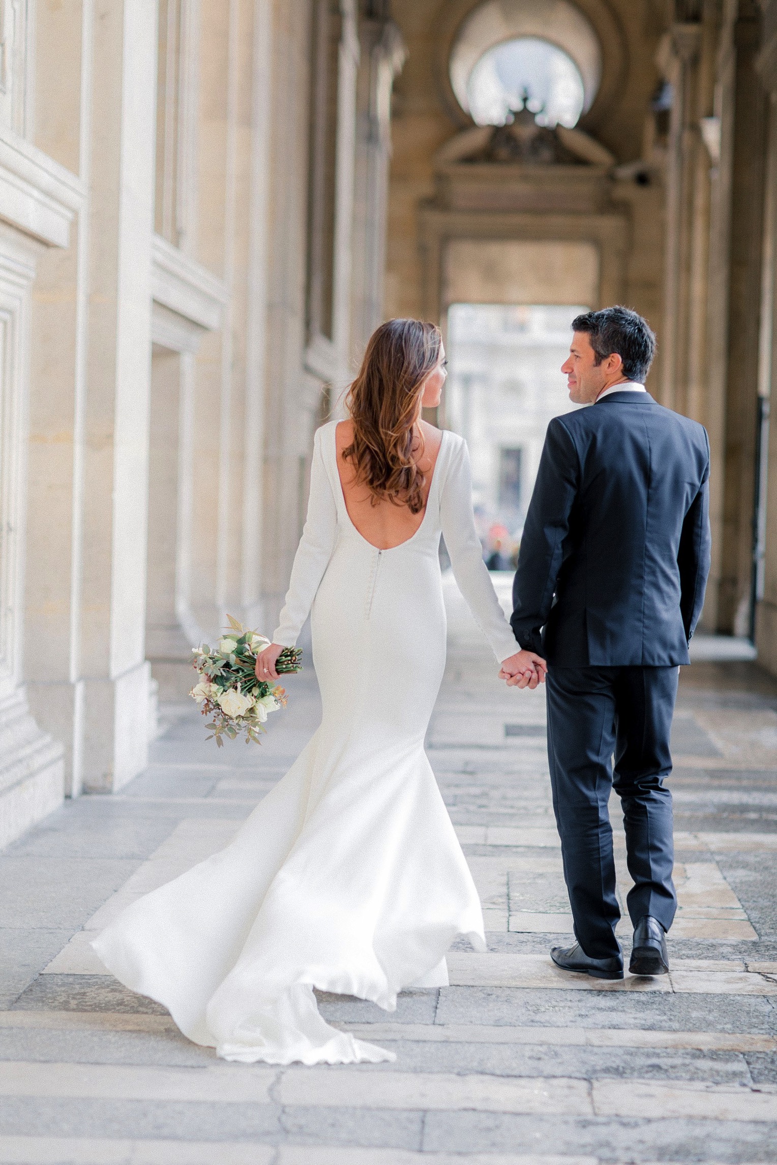
M 573 313 L 645 315 L 709 432 L 704 626 L 777 671 L 776 94 L 777 0 L 0 2 L 0 843 L 274 627 L 389 316 L 440 323 L 509 541 Z

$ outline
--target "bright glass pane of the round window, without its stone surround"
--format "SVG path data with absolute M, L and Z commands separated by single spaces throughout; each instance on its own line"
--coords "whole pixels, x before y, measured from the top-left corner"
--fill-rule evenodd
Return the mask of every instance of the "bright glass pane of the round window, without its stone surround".
M 521 36 L 483 52 L 467 80 L 467 104 L 479 126 L 503 126 L 524 105 L 541 126 L 575 126 L 585 89 L 574 61 L 550 41 Z

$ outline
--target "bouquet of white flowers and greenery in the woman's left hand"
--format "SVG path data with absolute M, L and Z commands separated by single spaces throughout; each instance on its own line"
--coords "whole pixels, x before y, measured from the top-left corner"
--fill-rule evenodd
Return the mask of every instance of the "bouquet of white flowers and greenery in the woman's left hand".
M 256 678 L 256 656 L 269 644 L 264 635 L 249 631 L 232 615 L 229 631 L 221 636 L 219 645 L 211 650 L 207 643 L 192 648 L 198 682 L 189 693 L 202 704 L 203 715 L 213 716 L 207 725 L 212 729 L 207 740 L 224 744 L 226 734 L 234 740 L 245 732 L 246 743 L 260 744 L 259 734 L 267 732 L 264 721 L 268 713 L 277 712 L 287 702 L 285 691 L 277 684 Z M 275 670 L 283 675 L 302 671 L 302 651 L 284 648 Z

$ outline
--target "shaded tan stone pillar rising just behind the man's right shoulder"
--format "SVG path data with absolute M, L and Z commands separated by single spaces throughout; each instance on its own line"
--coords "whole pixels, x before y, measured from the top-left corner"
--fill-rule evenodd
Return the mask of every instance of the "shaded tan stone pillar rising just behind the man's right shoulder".
M 726 337 L 732 164 L 721 98 L 736 5 L 676 3 L 669 43 L 674 89 L 669 147 L 664 326 L 664 404 L 707 426 L 712 459 L 713 570 L 702 627 L 718 620 L 722 555 Z M 691 19 L 692 17 L 692 19 Z

